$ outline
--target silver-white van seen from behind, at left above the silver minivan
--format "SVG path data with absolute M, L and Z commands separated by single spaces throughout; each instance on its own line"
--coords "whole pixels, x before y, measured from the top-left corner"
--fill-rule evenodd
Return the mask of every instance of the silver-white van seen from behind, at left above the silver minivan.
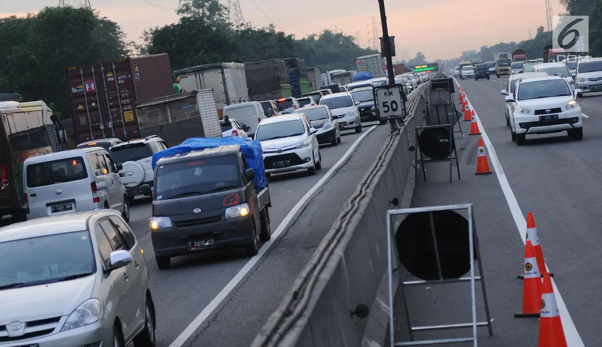
M 117 173 L 122 168 L 102 147 L 25 159 L 23 194 L 29 205 L 27 219 L 110 208 L 129 221 L 128 196 Z

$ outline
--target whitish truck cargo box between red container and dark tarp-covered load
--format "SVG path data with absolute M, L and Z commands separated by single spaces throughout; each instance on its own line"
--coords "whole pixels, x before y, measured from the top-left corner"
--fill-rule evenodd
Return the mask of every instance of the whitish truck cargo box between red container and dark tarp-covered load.
M 180 79 L 179 85 L 183 91 L 213 89 L 220 119 L 224 106 L 250 101 L 244 64 L 200 65 L 175 70 L 173 74 Z

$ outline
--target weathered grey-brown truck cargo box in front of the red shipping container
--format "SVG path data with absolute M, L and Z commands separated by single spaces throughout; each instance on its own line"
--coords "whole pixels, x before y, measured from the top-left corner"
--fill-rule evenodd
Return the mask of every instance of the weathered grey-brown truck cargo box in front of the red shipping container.
M 141 137 L 158 135 L 170 147 L 192 137 L 222 137 L 213 89 L 146 100 L 136 111 Z

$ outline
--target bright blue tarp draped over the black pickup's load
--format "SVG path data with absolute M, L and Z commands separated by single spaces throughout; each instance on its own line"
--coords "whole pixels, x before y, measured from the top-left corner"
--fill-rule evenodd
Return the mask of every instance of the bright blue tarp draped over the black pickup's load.
M 263 165 L 263 155 L 261 153 L 261 143 L 258 140 L 244 140 L 240 137 L 223 137 L 223 138 L 206 138 L 206 137 L 194 137 L 189 138 L 178 146 L 170 147 L 161 152 L 157 152 L 152 156 L 152 169 L 155 170 L 157 167 L 157 161 L 159 159 L 174 156 L 178 153 L 187 153 L 193 150 L 202 150 L 206 148 L 214 148 L 219 146 L 238 145 L 240 146 L 240 152 L 243 153 L 244 158 L 247 159 L 247 164 L 250 168 L 255 171 L 255 189 L 259 191 L 264 189 L 267 183 L 265 179 L 265 170 Z

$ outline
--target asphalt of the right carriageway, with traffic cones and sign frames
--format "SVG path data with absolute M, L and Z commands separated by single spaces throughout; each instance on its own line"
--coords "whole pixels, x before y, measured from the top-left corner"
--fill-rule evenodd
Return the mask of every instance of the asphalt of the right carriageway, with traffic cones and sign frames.
M 418 174 L 412 205 L 474 205 L 494 330 L 494 336 L 489 337 L 486 328 L 478 328 L 479 345 L 538 343 L 539 320 L 514 318 L 514 313 L 520 312 L 523 297 L 523 281 L 517 280 L 516 275 L 522 272 L 527 212 L 533 212 L 546 264 L 554 273 L 556 300 L 568 346 L 600 345 L 602 95 L 586 94 L 577 99 L 584 117 L 587 116 L 582 141 L 573 140 L 565 132 L 527 135 L 527 144 L 517 146 L 510 139 L 504 118 L 505 102 L 500 94 L 507 79 L 494 76 L 491 80 L 458 82 L 476 111 L 493 174 L 474 175 L 479 136 L 466 135 L 470 122 L 461 122 L 465 137 L 456 134 L 456 146 L 462 179 L 458 180 L 454 171 L 453 183 L 449 183 L 447 163 L 428 164 L 427 182 Z M 417 286 L 406 293 L 414 326 L 471 321 L 468 284 Z M 477 294 L 477 316 L 479 321 L 485 321 L 478 286 Z M 395 310 L 399 334 L 396 340 L 407 341 L 407 319 L 399 300 Z M 470 334 L 470 330 L 456 330 L 419 333 L 416 337 Z

